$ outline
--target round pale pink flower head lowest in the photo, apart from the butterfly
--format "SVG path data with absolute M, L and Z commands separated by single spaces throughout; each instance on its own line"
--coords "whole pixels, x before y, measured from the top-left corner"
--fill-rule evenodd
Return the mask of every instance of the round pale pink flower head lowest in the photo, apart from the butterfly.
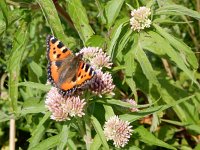
M 112 116 L 104 125 L 104 134 L 107 141 L 113 140 L 115 147 L 124 147 L 133 131 L 128 121 L 121 120 L 118 116 Z

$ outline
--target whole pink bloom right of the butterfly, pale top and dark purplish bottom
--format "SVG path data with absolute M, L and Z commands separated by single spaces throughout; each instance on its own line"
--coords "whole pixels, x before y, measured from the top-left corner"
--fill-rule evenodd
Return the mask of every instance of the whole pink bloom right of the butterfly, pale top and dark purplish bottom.
M 83 59 L 90 62 L 92 67 L 96 71 L 93 82 L 89 84 L 89 89 L 92 93 L 101 96 L 102 94 L 114 94 L 113 89 L 115 85 L 113 84 L 113 79 L 110 73 L 104 73 L 102 68 L 111 68 L 112 63 L 110 61 L 110 56 L 103 52 L 101 48 L 98 47 L 85 47 L 80 50 L 83 53 Z

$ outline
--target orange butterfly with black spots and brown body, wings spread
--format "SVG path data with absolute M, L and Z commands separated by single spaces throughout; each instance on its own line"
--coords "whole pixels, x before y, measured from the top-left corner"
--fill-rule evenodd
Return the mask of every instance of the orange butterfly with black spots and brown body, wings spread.
M 63 96 L 72 95 L 84 87 L 96 74 L 94 69 L 82 60 L 83 54 L 74 55 L 52 35 L 47 36 L 48 80 Z

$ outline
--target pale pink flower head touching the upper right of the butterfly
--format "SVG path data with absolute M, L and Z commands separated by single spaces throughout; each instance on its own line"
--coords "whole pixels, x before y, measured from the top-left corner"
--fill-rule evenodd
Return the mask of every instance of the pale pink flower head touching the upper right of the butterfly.
M 110 56 L 104 53 L 101 48 L 85 47 L 78 54 L 80 53 L 83 53 L 83 59 L 88 61 L 94 69 L 111 68 L 112 66 Z

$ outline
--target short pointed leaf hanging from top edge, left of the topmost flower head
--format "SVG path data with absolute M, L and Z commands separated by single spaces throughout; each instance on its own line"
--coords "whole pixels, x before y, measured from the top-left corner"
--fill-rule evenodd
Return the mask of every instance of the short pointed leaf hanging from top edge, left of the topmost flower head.
M 111 0 L 107 2 L 105 6 L 105 14 L 108 28 L 110 28 L 115 22 L 115 19 L 119 15 L 123 3 L 124 0 Z

